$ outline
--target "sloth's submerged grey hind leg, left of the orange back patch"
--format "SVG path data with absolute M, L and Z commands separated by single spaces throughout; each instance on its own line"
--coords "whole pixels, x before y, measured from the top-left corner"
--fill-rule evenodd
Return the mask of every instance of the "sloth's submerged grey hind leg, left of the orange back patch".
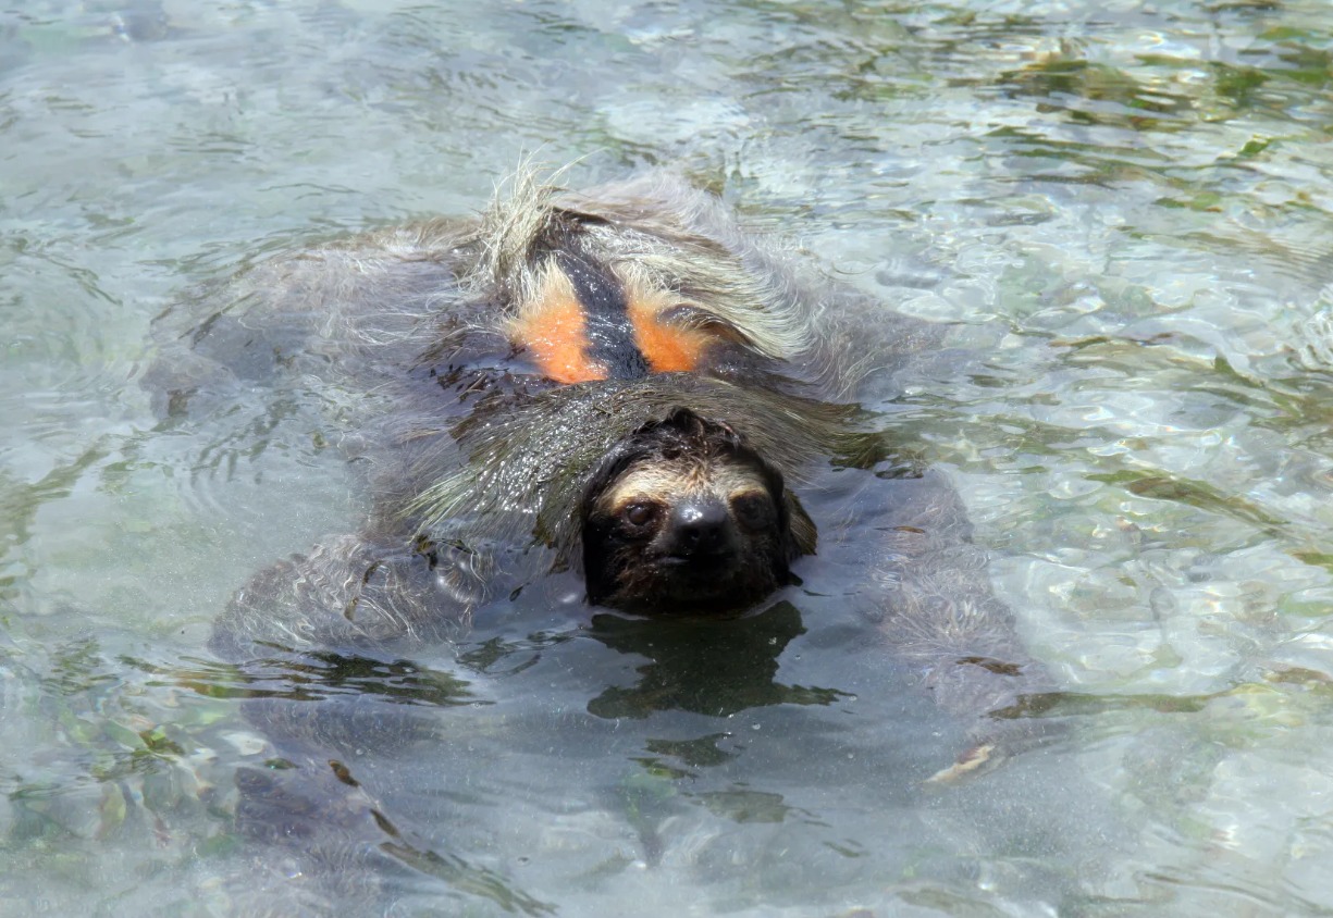
M 207 282 L 153 322 L 144 376 L 159 417 L 203 417 L 255 386 L 372 392 L 461 353 L 480 322 L 459 290 L 463 230 L 447 221 L 316 246 Z M 424 341 L 436 345 L 425 353 Z

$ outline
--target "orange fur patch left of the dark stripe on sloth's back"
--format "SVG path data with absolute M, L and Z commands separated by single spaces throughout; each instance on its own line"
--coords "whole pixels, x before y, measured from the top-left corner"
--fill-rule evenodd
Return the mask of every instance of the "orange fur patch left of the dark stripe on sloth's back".
M 537 301 L 509 325 L 509 340 L 527 348 L 541 374 L 556 382 L 607 378 L 607 368 L 588 356 L 583 304 L 564 272 L 547 273 Z

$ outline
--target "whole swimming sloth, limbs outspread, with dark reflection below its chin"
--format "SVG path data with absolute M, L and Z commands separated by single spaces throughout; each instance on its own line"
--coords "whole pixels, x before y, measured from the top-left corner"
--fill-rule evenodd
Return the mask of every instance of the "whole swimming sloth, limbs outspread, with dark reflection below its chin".
M 199 301 L 209 314 L 173 309 L 156 326 L 145 385 L 164 424 L 240 422 L 256 388 L 269 404 L 313 393 L 369 496 L 355 530 L 236 593 L 212 648 L 243 670 L 400 660 L 473 618 L 585 598 L 644 617 L 603 613 L 593 636 L 651 661 L 595 714 L 829 703 L 773 682 L 804 633 L 796 606 L 817 596 L 973 725 L 936 777 L 1040 737 L 1024 714 L 1049 680 L 956 492 L 860 408 L 938 360 L 948 329 L 806 282 L 710 195 L 663 175 L 571 193 L 521 173 L 476 219 L 279 257 Z M 826 564 L 812 568 L 816 550 Z M 692 617 L 722 637 L 692 641 Z M 663 618 L 672 638 L 652 650 Z M 725 672 L 737 649 L 726 697 L 698 697 L 701 670 Z M 393 742 L 356 699 L 313 707 L 256 698 L 249 715 L 316 769 L 367 729 Z M 243 811 L 283 798 L 275 782 L 243 781 Z

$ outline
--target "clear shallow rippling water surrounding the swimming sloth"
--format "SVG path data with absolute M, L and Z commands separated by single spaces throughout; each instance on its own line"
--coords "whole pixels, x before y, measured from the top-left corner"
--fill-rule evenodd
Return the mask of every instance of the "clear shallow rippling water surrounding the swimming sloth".
M 356 759 L 439 858 L 399 913 L 1333 910 L 1330 44 L 1322 3 L 0 13 L 0 899 L 295 901 L 231 831 L 265 751 L 203 645 L 357 496 L 263 393 L 159 426 L 148 326 L 540 149 L 682 165 L 888 305 L 1006 329 L 892 408 L 1072 730 L 925 793 L 957 727 L 832 604 L 701 695 L 577 606 L 485 624 L 415 661 L 431 761 Z

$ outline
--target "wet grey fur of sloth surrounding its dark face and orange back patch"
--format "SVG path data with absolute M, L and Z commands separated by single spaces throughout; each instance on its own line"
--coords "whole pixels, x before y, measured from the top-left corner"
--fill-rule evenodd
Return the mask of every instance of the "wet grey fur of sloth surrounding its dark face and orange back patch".
M 596 250 L 627 286 L 674 290 L 672 320 L 716 342 L 706 364 L 572 385 L 525 372 L 507 334 L 540 297 L 535 253 L 551 246 Z M 159 322 L 163 360 L 147 378 L 159 409 L 188 418 L 255 382 L 319 380 L 372 494 L 360 529 L 236 594 L 213 641 L 229 660 L 439 640 L 481 604 L 577 569 L 580 502 L 603 462 L 682 406 L 734 428 L 796 493 L 829 461 L 869 465 L 884 438 L 865 432 L 854 398 L 892 388 L 942 333 L 802 282 L 717 199 L 661 175 L 571 195 L 523 173 L 477 220 L 276 258 L 208 301 L 219 296 L 204 321 Z M 922 482 L 864 548 L 862 596 L 877 605 L 865 612 L 945 707 L 1012 706 L 1045 678 L 990 592 L 956 493 L 934 474 Z M 782 508 L 808 550 L 813 528 L 790 500 Z M 837 537 L 837 521 L 816 522 L 825 542 Z M 1025 676 L 968 662 L 989 660 Z

